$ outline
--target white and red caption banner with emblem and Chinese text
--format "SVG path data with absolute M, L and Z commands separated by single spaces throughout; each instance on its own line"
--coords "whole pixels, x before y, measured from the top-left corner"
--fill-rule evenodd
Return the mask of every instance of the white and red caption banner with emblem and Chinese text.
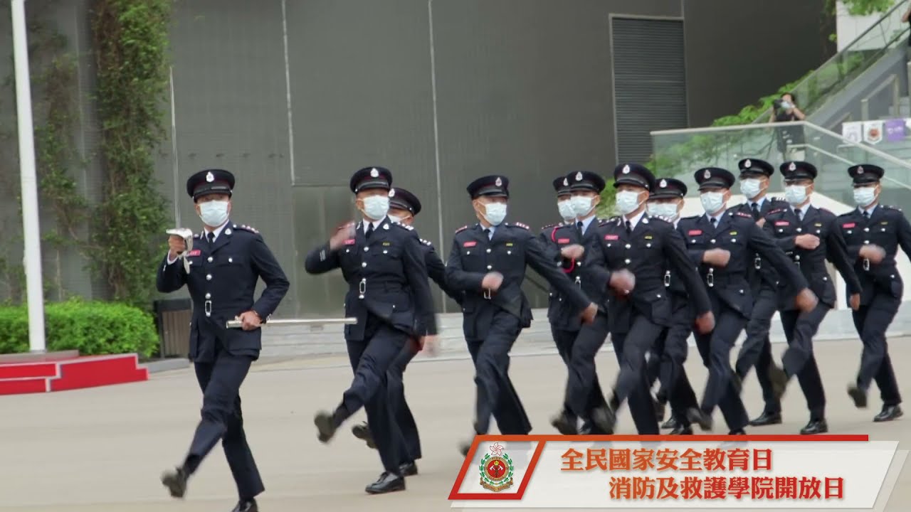
M 484 435 L 449 499 L 463 508 L 869 509 L 897 447 L 867 435 Z

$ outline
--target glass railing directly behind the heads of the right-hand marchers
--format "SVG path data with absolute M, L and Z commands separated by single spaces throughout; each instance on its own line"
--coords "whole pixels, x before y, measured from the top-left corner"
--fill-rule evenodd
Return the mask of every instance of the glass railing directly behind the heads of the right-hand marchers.
M 911 164 L 809 122 L 653 131 L 651 141 L 656 176 L 681 179 L 689 196 L 699 194 L 693 173 L 702 167 L 728 169 L 736 176 L 742 159 L 763 159 L 776 169 L 785 160 L 805 160 L 819 170 L 816 191 L 832 200 L 853 205 L 847 168 L 873 164 L 885 169 L 883 202 L 911 208 Z M 770 192 L 782 191 L 776 170 Z

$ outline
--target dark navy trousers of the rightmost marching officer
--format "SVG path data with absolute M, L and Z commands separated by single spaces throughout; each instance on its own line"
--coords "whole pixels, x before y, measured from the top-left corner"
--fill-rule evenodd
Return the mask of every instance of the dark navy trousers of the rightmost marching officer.
M 857 334 L 864 343 L 860 370 L 857 372 L 857 387 L 866 391 L 875 380 L 884 405 L 902 403 L 896 373 L 889 357 L 889 345 L 885 341 L 885 330 L 896 317 L 900 304 L 901 300 L 891 293 L 877 292 L 869 304 L 852 312 Z

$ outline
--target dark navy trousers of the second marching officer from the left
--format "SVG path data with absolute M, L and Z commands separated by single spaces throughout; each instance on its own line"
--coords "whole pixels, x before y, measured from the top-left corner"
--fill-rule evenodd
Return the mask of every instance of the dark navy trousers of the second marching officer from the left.
M 347 343 L 354 379 L 343 394 L 342 415 L 336 419 L 341 424 L 363 407 L 383 467 L 394 475 L 400 475 L 402 436 L 389 400 L 388 372 L 407 341 L 406 333 L 368 315 L 363 340 Z

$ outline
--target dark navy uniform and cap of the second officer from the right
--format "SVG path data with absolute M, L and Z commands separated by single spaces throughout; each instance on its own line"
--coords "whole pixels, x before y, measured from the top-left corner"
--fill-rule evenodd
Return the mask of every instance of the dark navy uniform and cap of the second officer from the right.
M 807 162 L 784 162 L 779 169 L 789 186 L 793 186 L 795 181 L 816 178 L 816 168 Z M 810 422 L 801 433 L 822 434 L 828 432 L 828 425 L 825 422 L 823 381 L 813 353 L 813 337 L 836 300 L 835 287 L 825 261 L 831 261 L 842 274 L 850 294 L 859 293 L 861 285 L 847 256 L 841 227 L 831 211 L 816 208 L 806 200 L 797 207 L 789 205 L 783 210 L 770 211 L 765 216 L 763 230 L 771 234 L 779 247 L 791 257 L 819 299 L 812 312 L 800 312 L 794 304 L 793 293 L 786 291 L 784 283 L 779 283 L 778 310 L 788 342 L 782 364 L 788 379 L 797 376 L 810 410 Z M 798 247 L 795 239 L 802 234 L 818 237 L 819 246 L 813 250 Z

